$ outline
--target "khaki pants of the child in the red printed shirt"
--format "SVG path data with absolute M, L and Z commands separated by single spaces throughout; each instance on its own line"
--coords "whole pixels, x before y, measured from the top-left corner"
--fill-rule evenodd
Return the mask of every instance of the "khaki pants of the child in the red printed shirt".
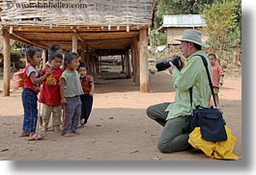
M 43 104 L 43 128 L 47 129 L 52 113 L 52 128 L 59 129 L 61 125 L 62 106 L 48 106 Z

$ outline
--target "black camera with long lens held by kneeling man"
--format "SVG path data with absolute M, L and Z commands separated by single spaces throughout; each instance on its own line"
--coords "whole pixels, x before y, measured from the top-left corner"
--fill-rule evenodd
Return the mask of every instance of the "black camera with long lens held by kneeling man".
M 166 70 L 167 68 L 169 68 L 171 66 L 169 62 L 173 63 L 177 68 L 181 68 L 183 66 L 181 57 L 176 55 L 176 56 L 173 56 L 173 58 L 169 61 L 156 62 L 157 72 Z

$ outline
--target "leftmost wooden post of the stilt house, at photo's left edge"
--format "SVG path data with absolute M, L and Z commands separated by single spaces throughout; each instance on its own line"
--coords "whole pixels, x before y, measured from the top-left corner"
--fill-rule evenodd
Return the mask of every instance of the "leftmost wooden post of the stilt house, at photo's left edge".
M 10 34 L 3 31 L 4 42 L 4 86 L 3 96 L 10 96 L 10 66 L 11 66 L 11 48 L 10 48 Z

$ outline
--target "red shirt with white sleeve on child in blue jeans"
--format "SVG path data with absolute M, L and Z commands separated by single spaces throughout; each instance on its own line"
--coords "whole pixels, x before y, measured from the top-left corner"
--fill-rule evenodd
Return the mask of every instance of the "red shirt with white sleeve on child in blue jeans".
M 24 79 L 24 88 L 30 88 L 32 89 L 35 93 L 39 93 L 40 92 L 40 84 L 37 85 L 33 85 L 31 80 L 30 80 L 30 74 L 32 72 L 36 73 L 36 78 L 40 77 L 38 70 L 31 66 L 30 64 L 28 64 L 24 70 L 24 74 L 23 74 L 23 79 Z

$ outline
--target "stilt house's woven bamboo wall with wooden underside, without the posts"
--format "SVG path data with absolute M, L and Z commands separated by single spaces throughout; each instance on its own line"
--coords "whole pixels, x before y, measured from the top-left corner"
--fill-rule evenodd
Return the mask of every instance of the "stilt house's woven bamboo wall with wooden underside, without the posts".
M 12 3 L 11 3 L 12 2 Z M 0 28 L 11 38 L 47 48 L 52 43 L 71 49 L 78 35 L 78 48 L 129 47 L 140 29 L 153 25 L 155 0 L 16 0 L 0 1 Z

